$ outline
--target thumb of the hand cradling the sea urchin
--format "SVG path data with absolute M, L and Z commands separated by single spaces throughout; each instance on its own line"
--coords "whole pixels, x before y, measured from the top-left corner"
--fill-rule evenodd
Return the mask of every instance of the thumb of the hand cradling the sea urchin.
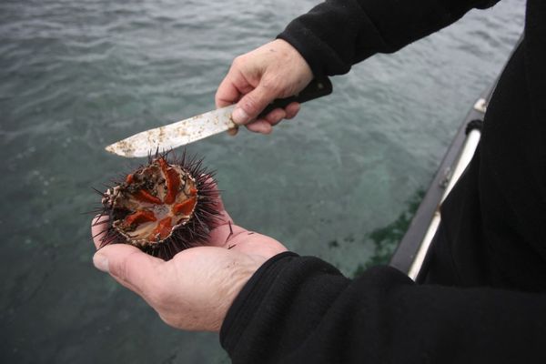
M 127 244 L 112 244 L 99 249 L 93 257 L 93 264 L 99 270 L 136 293 L 149 291 L 157 278 L 157 268 L 165 261 L 142 252 Z

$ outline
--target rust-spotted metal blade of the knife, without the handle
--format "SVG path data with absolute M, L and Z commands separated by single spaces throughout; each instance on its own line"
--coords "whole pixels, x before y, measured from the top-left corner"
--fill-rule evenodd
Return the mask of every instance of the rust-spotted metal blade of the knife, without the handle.
M 237 127 L 231 119 L 235 106 L 227 106 L 189 117 L 166 126 L 143 131 L 120 140 L 106 150 L 122 157 L 147 157 L 156 150 L 167 151 Z

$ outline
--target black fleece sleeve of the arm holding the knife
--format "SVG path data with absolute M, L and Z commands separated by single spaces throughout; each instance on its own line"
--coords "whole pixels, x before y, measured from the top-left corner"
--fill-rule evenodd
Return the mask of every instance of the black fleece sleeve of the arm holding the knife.
M 499 0 L 327 0 L 278 35 L 315 75 L 339 75 L 376 53 L 391 53 Z

